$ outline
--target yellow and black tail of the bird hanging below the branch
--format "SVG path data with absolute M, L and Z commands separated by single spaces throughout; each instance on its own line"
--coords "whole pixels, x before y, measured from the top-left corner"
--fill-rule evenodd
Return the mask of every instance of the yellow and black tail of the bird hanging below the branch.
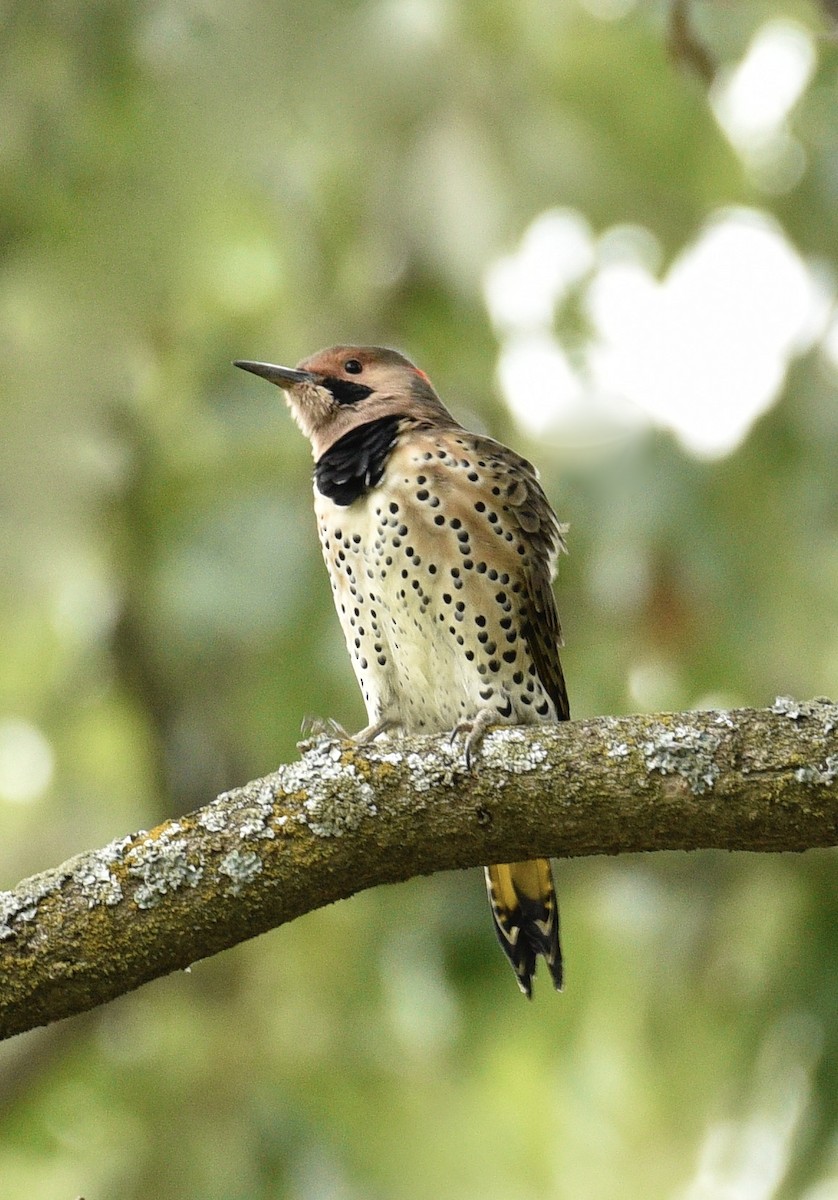
M 546 858 L 533 858 L 529 863 L 503 863 L 485 870 L 495 930 L 519 988 L 525 996 L 532 996 L 535 956 L 541 954 L 561 991 L 558 901 L 550 863 Z

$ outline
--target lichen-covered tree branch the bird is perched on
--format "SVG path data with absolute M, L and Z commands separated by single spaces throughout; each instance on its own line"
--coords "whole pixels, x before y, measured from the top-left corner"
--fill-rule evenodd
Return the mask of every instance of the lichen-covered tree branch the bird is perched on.
M 533 856 L 838 844 L 838 707 L 306 743 L 300 762 L 0 893 L 0 1038 L 379 883 Z

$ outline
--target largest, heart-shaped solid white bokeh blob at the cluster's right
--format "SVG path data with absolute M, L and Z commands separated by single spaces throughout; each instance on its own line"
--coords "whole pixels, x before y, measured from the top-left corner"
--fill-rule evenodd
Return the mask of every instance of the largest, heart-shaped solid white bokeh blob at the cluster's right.
M 777 400 L 826 319 L 825 298 L 766 217 L 712 222 L 659 283 L 609 266 L 588 292 L 597 386 L 642 408 L 696 455 L 729 454 Z

